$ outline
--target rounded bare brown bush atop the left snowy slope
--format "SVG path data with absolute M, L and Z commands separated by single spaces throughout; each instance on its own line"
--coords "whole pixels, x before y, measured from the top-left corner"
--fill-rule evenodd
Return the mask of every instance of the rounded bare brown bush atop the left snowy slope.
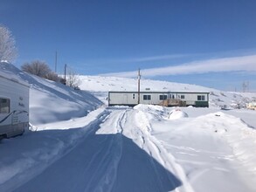
M 44 61 L 31 61 L 31 63 L 24 63 L 21 66 L 22 71 L 29 72 L 33 75 L 37 75 L 38 77 L 47 79 L 47 75 L 52 73 L 52 70 Z

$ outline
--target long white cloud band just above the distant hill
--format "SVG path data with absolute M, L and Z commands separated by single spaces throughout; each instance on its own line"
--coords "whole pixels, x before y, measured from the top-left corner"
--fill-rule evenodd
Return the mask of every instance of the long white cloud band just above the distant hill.
M 142 75 L 144 77 L 154 77 L 207 72 L 256 72 L 256 55 L 233 58 L 215 58 L 185 63 L 183 65 L 143 69 Z M 114 72 L 101 75 L 131 78 L 137 75 L 137 71 Z

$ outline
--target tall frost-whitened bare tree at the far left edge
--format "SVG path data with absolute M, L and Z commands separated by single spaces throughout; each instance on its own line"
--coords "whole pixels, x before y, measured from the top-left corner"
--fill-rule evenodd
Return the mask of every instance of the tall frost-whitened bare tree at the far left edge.
M 0 24 L 0 61 L 12 62 L 17 57 L 15 39 L 10 30 Z

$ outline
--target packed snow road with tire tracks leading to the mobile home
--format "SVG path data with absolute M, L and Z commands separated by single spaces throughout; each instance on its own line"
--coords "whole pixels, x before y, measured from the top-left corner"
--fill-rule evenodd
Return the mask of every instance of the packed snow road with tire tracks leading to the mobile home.
M 134 113 L 130 109 L 103 113 L 80 143 L 15 191 L 153 192 L 181 186 L 182 182 L 150 155 L 156 153 L 157 146 L 135 124 Z M 139 140 L 149 154 L 133 140 Z

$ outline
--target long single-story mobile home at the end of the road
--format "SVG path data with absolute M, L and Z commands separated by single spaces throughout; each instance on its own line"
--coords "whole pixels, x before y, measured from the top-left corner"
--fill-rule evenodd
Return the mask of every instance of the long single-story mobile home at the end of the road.
M 108 106 L 209 106 L 209 93 L 196 92 L 109 92 L 107 99 Z

